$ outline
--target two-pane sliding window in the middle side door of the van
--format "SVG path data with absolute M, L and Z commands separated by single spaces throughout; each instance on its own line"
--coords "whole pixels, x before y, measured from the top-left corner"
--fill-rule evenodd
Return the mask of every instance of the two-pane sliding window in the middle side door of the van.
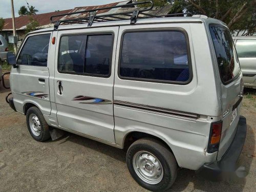
M 112 34 L 62 36 L 59 46 L 58 71 L 108 76 L 112 46 Z

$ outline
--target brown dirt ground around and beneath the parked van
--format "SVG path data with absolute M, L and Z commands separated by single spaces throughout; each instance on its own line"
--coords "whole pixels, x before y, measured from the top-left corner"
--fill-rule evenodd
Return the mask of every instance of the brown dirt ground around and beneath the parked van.
M 71 133 L 55 141 L 37 142 L 25 116 L 5 102 L 0 87 L 0 191 L 146 191 L 130 176 L 122 150 Z M 256 90 L 246 89 L 242 115 L 247 138 L 239 162 L 247 177 L 211 182 L 180 169 L 170 191 L 256 191 Z

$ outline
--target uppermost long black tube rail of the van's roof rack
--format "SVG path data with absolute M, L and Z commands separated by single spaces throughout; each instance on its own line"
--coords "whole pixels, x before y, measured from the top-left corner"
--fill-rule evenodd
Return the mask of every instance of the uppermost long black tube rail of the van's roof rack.
M 146 2 L 138 2 L 138 3 L 126 4 L 126 5 L 118 5 L 118 6 L 112 6 L 112 7 L 91 9 L 91 10 L 86 10 L 86 11 L 77 11 L 77 12 L 73 12 L 73 13 L 58 14 L 58 15 L 51 16 L 50 20 L 51 20 L 51 23 L 57 23 L 56 21 L 53 21 L 53 18 L 59 17 L 59 16 L 74 15 L 74 14 L 79 14 L 79 13 L 90 13 L 90 12 L 94 12 L 94 11 L 108 10 L 108 9 L 119 8 L 119 7 L 130 7 L 132 5 L 142 5 L 142 4 L 148 4 L 148 3 L 151 4 L 151 7 L 150 8 L 146 8 L 145 10 L 142 10 L 142 11 L 151 10 L 153 8 L 153 6 L 154 6 L 153 2 L 152 1 L 146 1 Z

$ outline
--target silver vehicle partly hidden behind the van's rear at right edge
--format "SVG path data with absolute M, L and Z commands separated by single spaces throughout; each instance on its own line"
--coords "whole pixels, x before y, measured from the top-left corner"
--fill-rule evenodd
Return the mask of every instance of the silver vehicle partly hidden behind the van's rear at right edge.
M 233 37 L 241 70 L 244 86 L 256 89 L 256 36 Z

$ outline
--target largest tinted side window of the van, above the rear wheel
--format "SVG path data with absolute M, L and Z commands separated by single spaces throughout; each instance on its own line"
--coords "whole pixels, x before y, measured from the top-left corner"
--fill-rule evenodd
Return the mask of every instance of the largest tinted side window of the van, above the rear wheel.
M 146 81 L 188 81 L 185 35 L 181 31 L 125 33 L 119 75 Z

